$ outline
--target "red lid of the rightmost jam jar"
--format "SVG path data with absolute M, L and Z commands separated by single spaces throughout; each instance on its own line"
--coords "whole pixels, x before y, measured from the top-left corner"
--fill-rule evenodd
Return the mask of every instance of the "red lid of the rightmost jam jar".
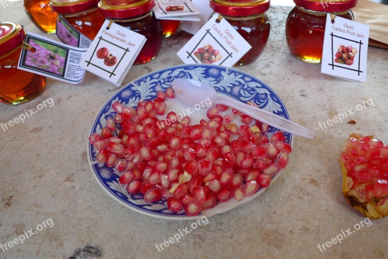
M 357 0 L 294 0 L 294 3 L 315 12 L 339 13 L 355 7 Z

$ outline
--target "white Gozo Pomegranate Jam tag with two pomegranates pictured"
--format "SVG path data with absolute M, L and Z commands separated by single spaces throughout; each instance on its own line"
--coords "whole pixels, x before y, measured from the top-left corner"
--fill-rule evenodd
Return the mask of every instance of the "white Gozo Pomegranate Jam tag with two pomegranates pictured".
M 120 85 L 146 43 L 146 37 L 105 20 L 81 60 L 81 66 L 100 78 Z

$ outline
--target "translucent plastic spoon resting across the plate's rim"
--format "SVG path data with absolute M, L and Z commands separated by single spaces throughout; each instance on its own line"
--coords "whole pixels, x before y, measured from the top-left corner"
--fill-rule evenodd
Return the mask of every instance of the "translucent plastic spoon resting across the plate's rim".
M 214 88 L 206 83 L 192 79 L 178 78 L 172 82 L 172 86 L 175 93 L 191 105 L 201 103 L 201 101 L 210 98 L 212 104 L 227 105 L 276 129 L 282 129 L 305 138 L 312 139 L 315 137 L 315 134 L 310 130 L 274 113 L 250 106 L 231 97 L 217 96 Z

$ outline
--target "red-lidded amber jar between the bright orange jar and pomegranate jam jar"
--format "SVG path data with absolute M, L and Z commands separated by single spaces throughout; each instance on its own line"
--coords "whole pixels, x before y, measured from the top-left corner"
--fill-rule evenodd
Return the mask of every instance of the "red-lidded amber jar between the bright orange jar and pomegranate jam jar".
M 97 4 L 98 0 L 51 0 L 52 10 L 91 40 L 94 40 L 105 21 Z

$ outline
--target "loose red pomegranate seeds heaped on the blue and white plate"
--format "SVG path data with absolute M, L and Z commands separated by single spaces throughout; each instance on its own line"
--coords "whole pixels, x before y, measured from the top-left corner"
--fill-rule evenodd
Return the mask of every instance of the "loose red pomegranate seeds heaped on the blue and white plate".
M 122 172 L 121 184 L 130 194 L 142 193 L 146 202 L 167 200 L 168 209 L 188 216 L 214 207 L 217 201 L 234 197 L 241 201 L 270 186 L 271 178 L 289 161 L 291 146 L 282 132 L 268 139 L 268 125 L 236 110 L 216 105 L 209 109 L 209 120 L 190 125 L 190 118 L 164 115 L 166 98 L 174 98 L 168 88 L 153 101 L 141 101 L 137 109 L 114 102 L 117 112 L 108 119 L 101 134 L 93 133 L 90 143 L 97 150 L 96 160 Z M 254 103 L 248 104 L 256 106 Z M 231 123 L 240 116 L 242 125 Z M 225 123 L 225 124 L 224 124 Z M 118 136 L 113 136 L 120 125 Z M 233 140 L 232 140 L 233 139 Z

